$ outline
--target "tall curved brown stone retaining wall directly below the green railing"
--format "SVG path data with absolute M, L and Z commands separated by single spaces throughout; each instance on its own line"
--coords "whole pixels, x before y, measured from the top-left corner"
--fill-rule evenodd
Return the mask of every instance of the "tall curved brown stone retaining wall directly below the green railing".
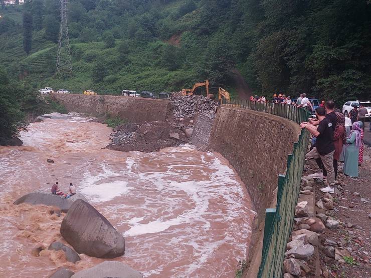
M 258 213 L 264 219 L 284 174 L 287 155 L 298 140 L 300 128 L 294 122 L 267 113 L 220 107 L 209 147 L 221 153 L 239 174 Z

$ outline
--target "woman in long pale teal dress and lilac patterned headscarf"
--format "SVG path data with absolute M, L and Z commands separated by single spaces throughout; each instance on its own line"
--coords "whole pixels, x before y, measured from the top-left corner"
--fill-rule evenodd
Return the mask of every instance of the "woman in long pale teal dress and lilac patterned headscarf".
M 358 176 L 359 149 L 362 145 L 360 131 L 359 123 L 354 122 L 352 131 L 346 139 L 347 146 L 344 149 L 344 174 L 351 177 Z

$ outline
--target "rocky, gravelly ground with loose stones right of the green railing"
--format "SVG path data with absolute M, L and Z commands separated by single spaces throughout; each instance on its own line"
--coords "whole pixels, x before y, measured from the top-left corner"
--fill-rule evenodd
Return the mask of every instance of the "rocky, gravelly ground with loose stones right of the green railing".
M 304 172 L 301 193 L 314 192 L 315 206 L 299 198 L 285 253 L 285 278 L 371 274 L 371 148 L 364 148 L 359 177 L 345 176 L 340 165 L 335 194 L 322 193 L 323 181 Z

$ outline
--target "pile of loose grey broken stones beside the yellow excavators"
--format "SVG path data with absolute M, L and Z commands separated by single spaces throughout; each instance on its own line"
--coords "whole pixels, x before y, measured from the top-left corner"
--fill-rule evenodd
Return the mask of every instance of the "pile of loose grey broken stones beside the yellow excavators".
M 203 96 L 171 96 L 170 102 L 176 118 L 193 118 L 199 113 L 214 114 L 218 102 Z

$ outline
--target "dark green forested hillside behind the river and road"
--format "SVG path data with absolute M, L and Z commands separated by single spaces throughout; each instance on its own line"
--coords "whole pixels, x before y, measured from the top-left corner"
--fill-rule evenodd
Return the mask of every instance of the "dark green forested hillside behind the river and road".
M 0 8 L 0 64 L 12 77 L 80 93 L 179 90 L 205 79 L 233 90 L 238 69 L 266 96 L 305 92 L 339 105 L 370 96 L 367 0 L 70 0 L 68 8 L 73 74 L 64 79 L 54 77 L 59 2 Z

